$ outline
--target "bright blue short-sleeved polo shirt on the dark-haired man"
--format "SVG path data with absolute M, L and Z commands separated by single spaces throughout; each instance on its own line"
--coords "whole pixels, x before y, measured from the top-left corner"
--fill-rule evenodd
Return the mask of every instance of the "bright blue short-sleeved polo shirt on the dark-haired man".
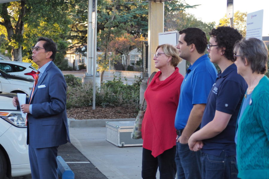
M 187 70 L 181 84 L 175 128 L 184 129 L 194 104 L 206 104 L 208 94 L 217 78 L 217 70 L 205 54 Z

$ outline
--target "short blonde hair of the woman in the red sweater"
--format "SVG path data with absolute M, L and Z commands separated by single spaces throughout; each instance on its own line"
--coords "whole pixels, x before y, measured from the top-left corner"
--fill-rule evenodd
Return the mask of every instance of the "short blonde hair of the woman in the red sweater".
M 163 52 L 164 52 L 164 54 L 166 56 L 172 56 L 172 59 L 171 59 L 170 63 L 174 67 L 176 67 L 182 61 L 182 59 L 179 57 L 178 49 L 176 49 L 174 46 L 172 46 L 170 44 L 158 45 L 158 47 L 156 48 L 155 52 L 157 52 L 157 50 L 159 48 L 162 48 L 163 49 Z

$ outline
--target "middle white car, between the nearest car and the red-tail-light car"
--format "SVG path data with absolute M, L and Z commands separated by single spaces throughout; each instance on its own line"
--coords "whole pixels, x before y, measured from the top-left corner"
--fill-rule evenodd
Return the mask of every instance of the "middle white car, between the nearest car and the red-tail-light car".
M 10 75 L 0 70 L 0 91 L 25 93 L 28 96 L 33 88 L 34 80 L 16 75 Z

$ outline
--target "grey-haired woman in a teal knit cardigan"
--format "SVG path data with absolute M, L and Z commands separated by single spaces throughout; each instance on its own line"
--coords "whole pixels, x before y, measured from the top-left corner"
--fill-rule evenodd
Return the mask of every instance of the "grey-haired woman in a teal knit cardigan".
M 268 49 L 257 38 L 242 39 L 234 47 L 237 72 L 248 88 L 236 130 L 238 178 L 269 178 L 269 79 Z

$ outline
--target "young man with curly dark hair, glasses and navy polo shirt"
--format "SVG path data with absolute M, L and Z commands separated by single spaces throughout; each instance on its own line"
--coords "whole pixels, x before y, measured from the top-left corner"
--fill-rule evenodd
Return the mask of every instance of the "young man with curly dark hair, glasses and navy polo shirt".
M 234 64 L 233 46 L 242 35 L 231 27 L 218 27 L 210 33 L 207 51 L 221 72 L 207 99 L 201 129 L 189 138 L 192 151 L 201 149 L 202 178 L 237 178 L 236 120 L 247 89 Z

